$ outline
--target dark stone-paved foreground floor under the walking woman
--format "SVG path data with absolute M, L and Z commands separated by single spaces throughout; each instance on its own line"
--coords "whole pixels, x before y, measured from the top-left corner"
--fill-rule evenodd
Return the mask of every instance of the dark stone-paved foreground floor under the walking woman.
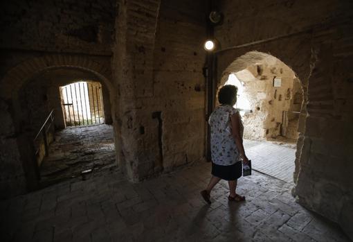
M 228 202 L 220 182 L 207 205 L 209 178 L 206 162 L 138 184 L 116 167 L 93 171 L 0 201 L 1 241 L 350 241 L 298 205 L 287 182 L 255 171 L 238 182 L 246 202 Z

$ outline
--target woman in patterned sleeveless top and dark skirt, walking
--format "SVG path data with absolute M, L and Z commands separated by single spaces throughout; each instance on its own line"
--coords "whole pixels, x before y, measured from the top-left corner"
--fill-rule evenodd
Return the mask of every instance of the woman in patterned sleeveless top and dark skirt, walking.
M 233 105 L 237 102 L 237 87 L 224 85 L 218 92 L 220 105 L 210 115 L 211 128 L 212 178 L 201 196 L 210 201 L 210 192 L 219 180 L 227 180 L 229 185 L 228 200 L 244 201 L 244 196 L 235 193 L 237 179 L 242 176 L 242 161 L 248 164 L 243 146 L 242 120 Z

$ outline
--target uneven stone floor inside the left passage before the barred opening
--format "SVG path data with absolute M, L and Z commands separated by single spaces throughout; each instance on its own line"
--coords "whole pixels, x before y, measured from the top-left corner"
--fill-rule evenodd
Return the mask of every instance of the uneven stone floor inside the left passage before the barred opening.
M 82 171 L 115 165 L 113 127 L 101 124 L 60 130 L 40 167 L 42 184 L 80 176 Z

